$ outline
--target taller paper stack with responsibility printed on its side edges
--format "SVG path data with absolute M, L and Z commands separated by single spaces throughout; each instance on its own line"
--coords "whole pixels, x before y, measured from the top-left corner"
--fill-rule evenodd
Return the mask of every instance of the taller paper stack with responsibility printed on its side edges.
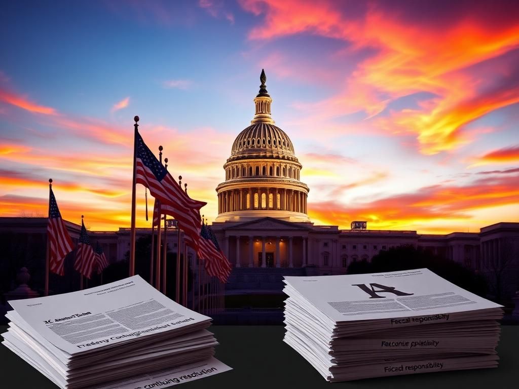
M 328 381 L 497 367 L 501 305 L 428 269 L 284 282 L 284 341 Z

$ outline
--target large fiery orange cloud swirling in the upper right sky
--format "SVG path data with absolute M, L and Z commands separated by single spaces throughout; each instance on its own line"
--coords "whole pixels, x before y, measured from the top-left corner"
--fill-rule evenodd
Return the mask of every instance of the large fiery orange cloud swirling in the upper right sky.
M 341 10 L 336 2 L 241 2 L 245 10 L 264 15 L 264 22 L 251 30 L 251 39 L 268 40 L 300 33 L 340 39 L 347 45 L 347 60 L 354 59 L 362 50 L 373 51 L 360 60 L 356 70 L 343 75 L 342 91 L 315 103 L 295 105 L 311 113 L 304 118 L 306 122 L 319 122 L 325 127 L 323 123 L 356 112 L 375 117 L 390 102 L 429 92 L 435 97 L 419 109 L 374 121 L 381 131 L 416 134 L 420 151 L 429 155 L 471 142 L 473 136 L 465 131 L 468 123 L 519 102 L 516 82 L 509 82 L 508 87 L 503 83 L 498 90 L 488 93 L 482 88 L 488 72 L 478 74 L 471 69 L 519 47 L 519 23 L 513 22 L 513 18 L 507 23 L 487 22 L 486 14 L 476 18 L 471 12 L 463 12 L 465 17 L 451 23 L 417 23 L 413 19 L 403 20 L 395 8 L 383 9 L 383 3 L 370 4 L 356 15 L 350 11 L 355 7 Z M 476 11 L 484 13 L 481 9 Z M 276 66 L 276 62 L 272 64 Z M 517 64 L 499 63 L 496 67 L 502 74 L 511 72 L 515 78 L 518 76 L 514 71 Z M 277 71 L 276 67 L 274 70 Z M 281 73 L 285 71 L 280 68 Z

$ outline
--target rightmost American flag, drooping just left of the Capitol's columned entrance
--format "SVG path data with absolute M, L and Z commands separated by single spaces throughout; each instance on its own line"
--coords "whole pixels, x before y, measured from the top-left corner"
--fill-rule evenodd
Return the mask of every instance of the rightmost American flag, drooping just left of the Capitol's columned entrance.
M 200 259 L 205 260 L 204 266 L 207 273 L 218 277 L 223 283 L 227 282 L 231 270 L 230 263 L 220 249 L 213 230 L 203 223 L 200 238 L 198 255 Z

